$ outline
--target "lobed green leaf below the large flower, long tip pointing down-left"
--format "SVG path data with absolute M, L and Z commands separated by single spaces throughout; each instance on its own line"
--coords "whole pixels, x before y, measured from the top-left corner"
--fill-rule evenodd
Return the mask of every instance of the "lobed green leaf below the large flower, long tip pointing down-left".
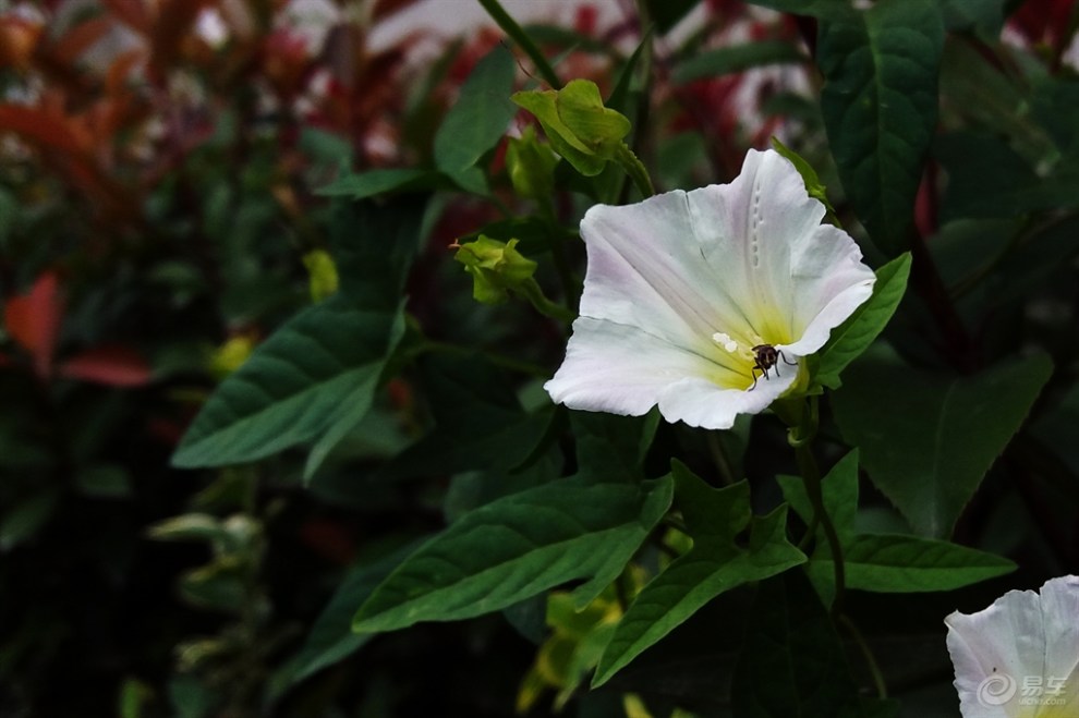
M 606 683 L 725 591 L 805 561 L 787 541 L 785 507 L 754 519 L 748 548 L 739 546 L 735 537 L 751 522 L 749 484 L 713 489 L 677 461 L 672 468 L 678 507 L 689 525 L 693 548 L 638 594 L 607 644 L 593 687 Z

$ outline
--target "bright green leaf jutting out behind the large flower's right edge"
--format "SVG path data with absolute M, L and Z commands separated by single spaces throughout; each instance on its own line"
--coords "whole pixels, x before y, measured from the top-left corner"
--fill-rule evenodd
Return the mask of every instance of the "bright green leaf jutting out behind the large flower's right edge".
M 832 331 L 828 343 L 811 357 L 813 381 L 829 389 L 842 385 L 839 373 L 869 349 L 887 326 L 907 291 L 909 275 L 910 253 L 904 253 L 876 270 L 873 294 Z

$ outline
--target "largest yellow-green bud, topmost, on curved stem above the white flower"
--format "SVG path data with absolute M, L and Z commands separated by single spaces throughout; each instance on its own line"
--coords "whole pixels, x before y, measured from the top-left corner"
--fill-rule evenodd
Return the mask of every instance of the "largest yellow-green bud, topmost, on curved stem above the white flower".
M 573 80 L 562 89 L 529 90 L 510 99 L 532 112 L 559 155 L 586 177 L 599 174 L 620 151 L 630 121 L 603 106 L 599 88 Z

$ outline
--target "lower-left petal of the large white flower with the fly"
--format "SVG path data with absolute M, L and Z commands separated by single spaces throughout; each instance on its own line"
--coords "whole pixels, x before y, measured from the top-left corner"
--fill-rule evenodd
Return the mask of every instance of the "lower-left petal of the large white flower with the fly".
M 640 416 L 676 381 L 690 376 L 741 379 L 727 374 L 731 373 L 712 361 L 637 327 L 582 316 L 573 323 L 566 361 L 544 388 L 556 403 L 570 409 Z

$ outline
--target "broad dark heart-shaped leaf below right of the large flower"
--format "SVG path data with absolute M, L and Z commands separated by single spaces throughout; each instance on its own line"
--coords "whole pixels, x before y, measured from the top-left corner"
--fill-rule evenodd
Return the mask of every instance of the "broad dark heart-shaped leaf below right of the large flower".
M 974 376 L 941 376 L 882 348 L 847 369 L 833 410 L 877 488 L 918 533 L 943 538 L 1052 370 L 1038 354 Z

